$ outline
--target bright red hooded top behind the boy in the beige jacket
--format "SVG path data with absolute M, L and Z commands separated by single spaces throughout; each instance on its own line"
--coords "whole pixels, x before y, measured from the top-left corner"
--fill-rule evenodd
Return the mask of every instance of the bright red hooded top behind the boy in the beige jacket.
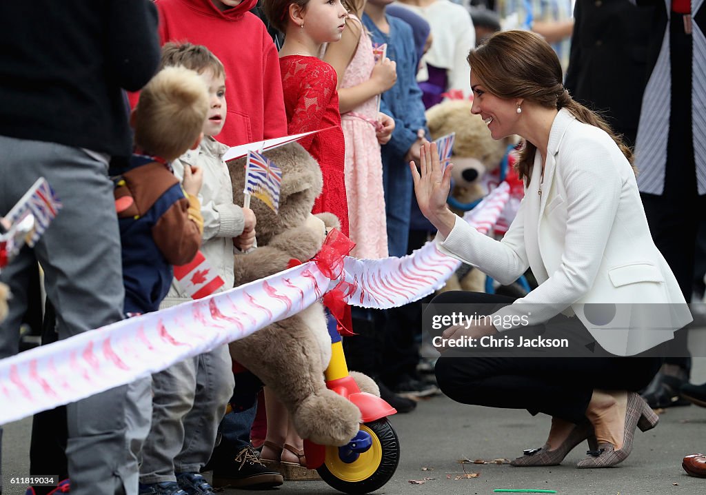
M 257 0 L 220 11 L 211 0 L 155 0 L 160 39 L 208 47 L 225 66 L 228 114 L 217 140 L 229 145 L 287 136 L 280 61 Z

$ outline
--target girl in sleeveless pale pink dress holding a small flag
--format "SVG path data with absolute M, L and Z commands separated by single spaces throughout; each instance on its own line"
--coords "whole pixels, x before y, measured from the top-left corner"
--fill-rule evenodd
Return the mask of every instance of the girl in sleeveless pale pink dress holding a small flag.
M 385 258 L 388 236 L 380 144 L 389 141 L 395 123 L 378 112 L 378 95 L 392 88 L 397 73 L 395 62 L 387 57 L 375 61 L 373 44 L 359 20 L 365 3 L 347 0 L 346 29 L 339 42 L 328 44 L 323 59 L 338 76 L 349 237 L 356 243 L 352 256 Z

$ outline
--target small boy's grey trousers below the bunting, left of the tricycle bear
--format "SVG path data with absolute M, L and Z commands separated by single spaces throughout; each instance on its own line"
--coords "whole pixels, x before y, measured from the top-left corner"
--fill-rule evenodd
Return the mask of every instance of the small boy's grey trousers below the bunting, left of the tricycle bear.
M 142 451 L 140 483 L 199 472 L 213 453 L 218 424 L 233 395 L 227 345 L 152 375 L 152 427 Z

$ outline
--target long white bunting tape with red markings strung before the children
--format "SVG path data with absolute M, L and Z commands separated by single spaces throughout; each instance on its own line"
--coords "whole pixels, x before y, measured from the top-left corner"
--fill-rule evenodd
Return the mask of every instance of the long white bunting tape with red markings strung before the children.
M 504 199 L 503 199 L 504 198 Z M 493 225 L 507 188 L 498 187 L 469 215 L 479 229 Z M 487 208 L 487 210 L 486 210 Z M 410 256 L 345 259 L 342 279 L 354 285 L 347 302 L 385 309 L 441 287 L 460 262 L 433 242 Z M 80 400 L 218 345 L 238 340 L 316 302 L 340 280 L 311 261 L 227 292 L 112 323 L 0 360 L 0 424 Z

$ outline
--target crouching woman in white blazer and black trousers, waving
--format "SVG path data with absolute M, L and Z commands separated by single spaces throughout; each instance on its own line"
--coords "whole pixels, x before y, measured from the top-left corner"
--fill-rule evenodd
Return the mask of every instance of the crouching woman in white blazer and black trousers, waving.
M 459 402 L 551 415 L 546 444 L 525 451 L 513 465 L 556 465 L 585 439 L 592 450 L 578 467 L 616 465 L 630 454 L 635 428 L 657 424 L 635 390 L 650 382 L 662 358 L 635 354 L 659 350 L 691 320 L 650 237 L 632 153 L 602 119 L 571 99 L 556 54 L 534 33 L 496 33 L 470 52 L 468 62 L 472 112 L 484 119 L 493 138 L 517 134 L 524 140 L 518 171 L 525 198 L 502 241 L 480 234 L 446 207 L 451 166 L 442 169 L 435 146 L 425 145 L 419 171 L 410 165 L 419 208 L 438 229 L 441 251 L 504 283 L 531 268 L 539 287 L 514 301 L 472 292 L 442 294 L 433 303 L 505 304 L 492 322 L 517 323 L 451 326 L 443 338 L 506 339 L 522 326 L 538 328 L 559 318 L 559 326 L 578 326 L 596 340 L 601 352 L 595 354 L 603 357 L 575 359 L 584 352 L 537 359 L 519 350 L 510 357 L 449 357 L 445 352 L 436 365 L 439 386 Z M 606 306 L 607 320 L 591 309 Z

